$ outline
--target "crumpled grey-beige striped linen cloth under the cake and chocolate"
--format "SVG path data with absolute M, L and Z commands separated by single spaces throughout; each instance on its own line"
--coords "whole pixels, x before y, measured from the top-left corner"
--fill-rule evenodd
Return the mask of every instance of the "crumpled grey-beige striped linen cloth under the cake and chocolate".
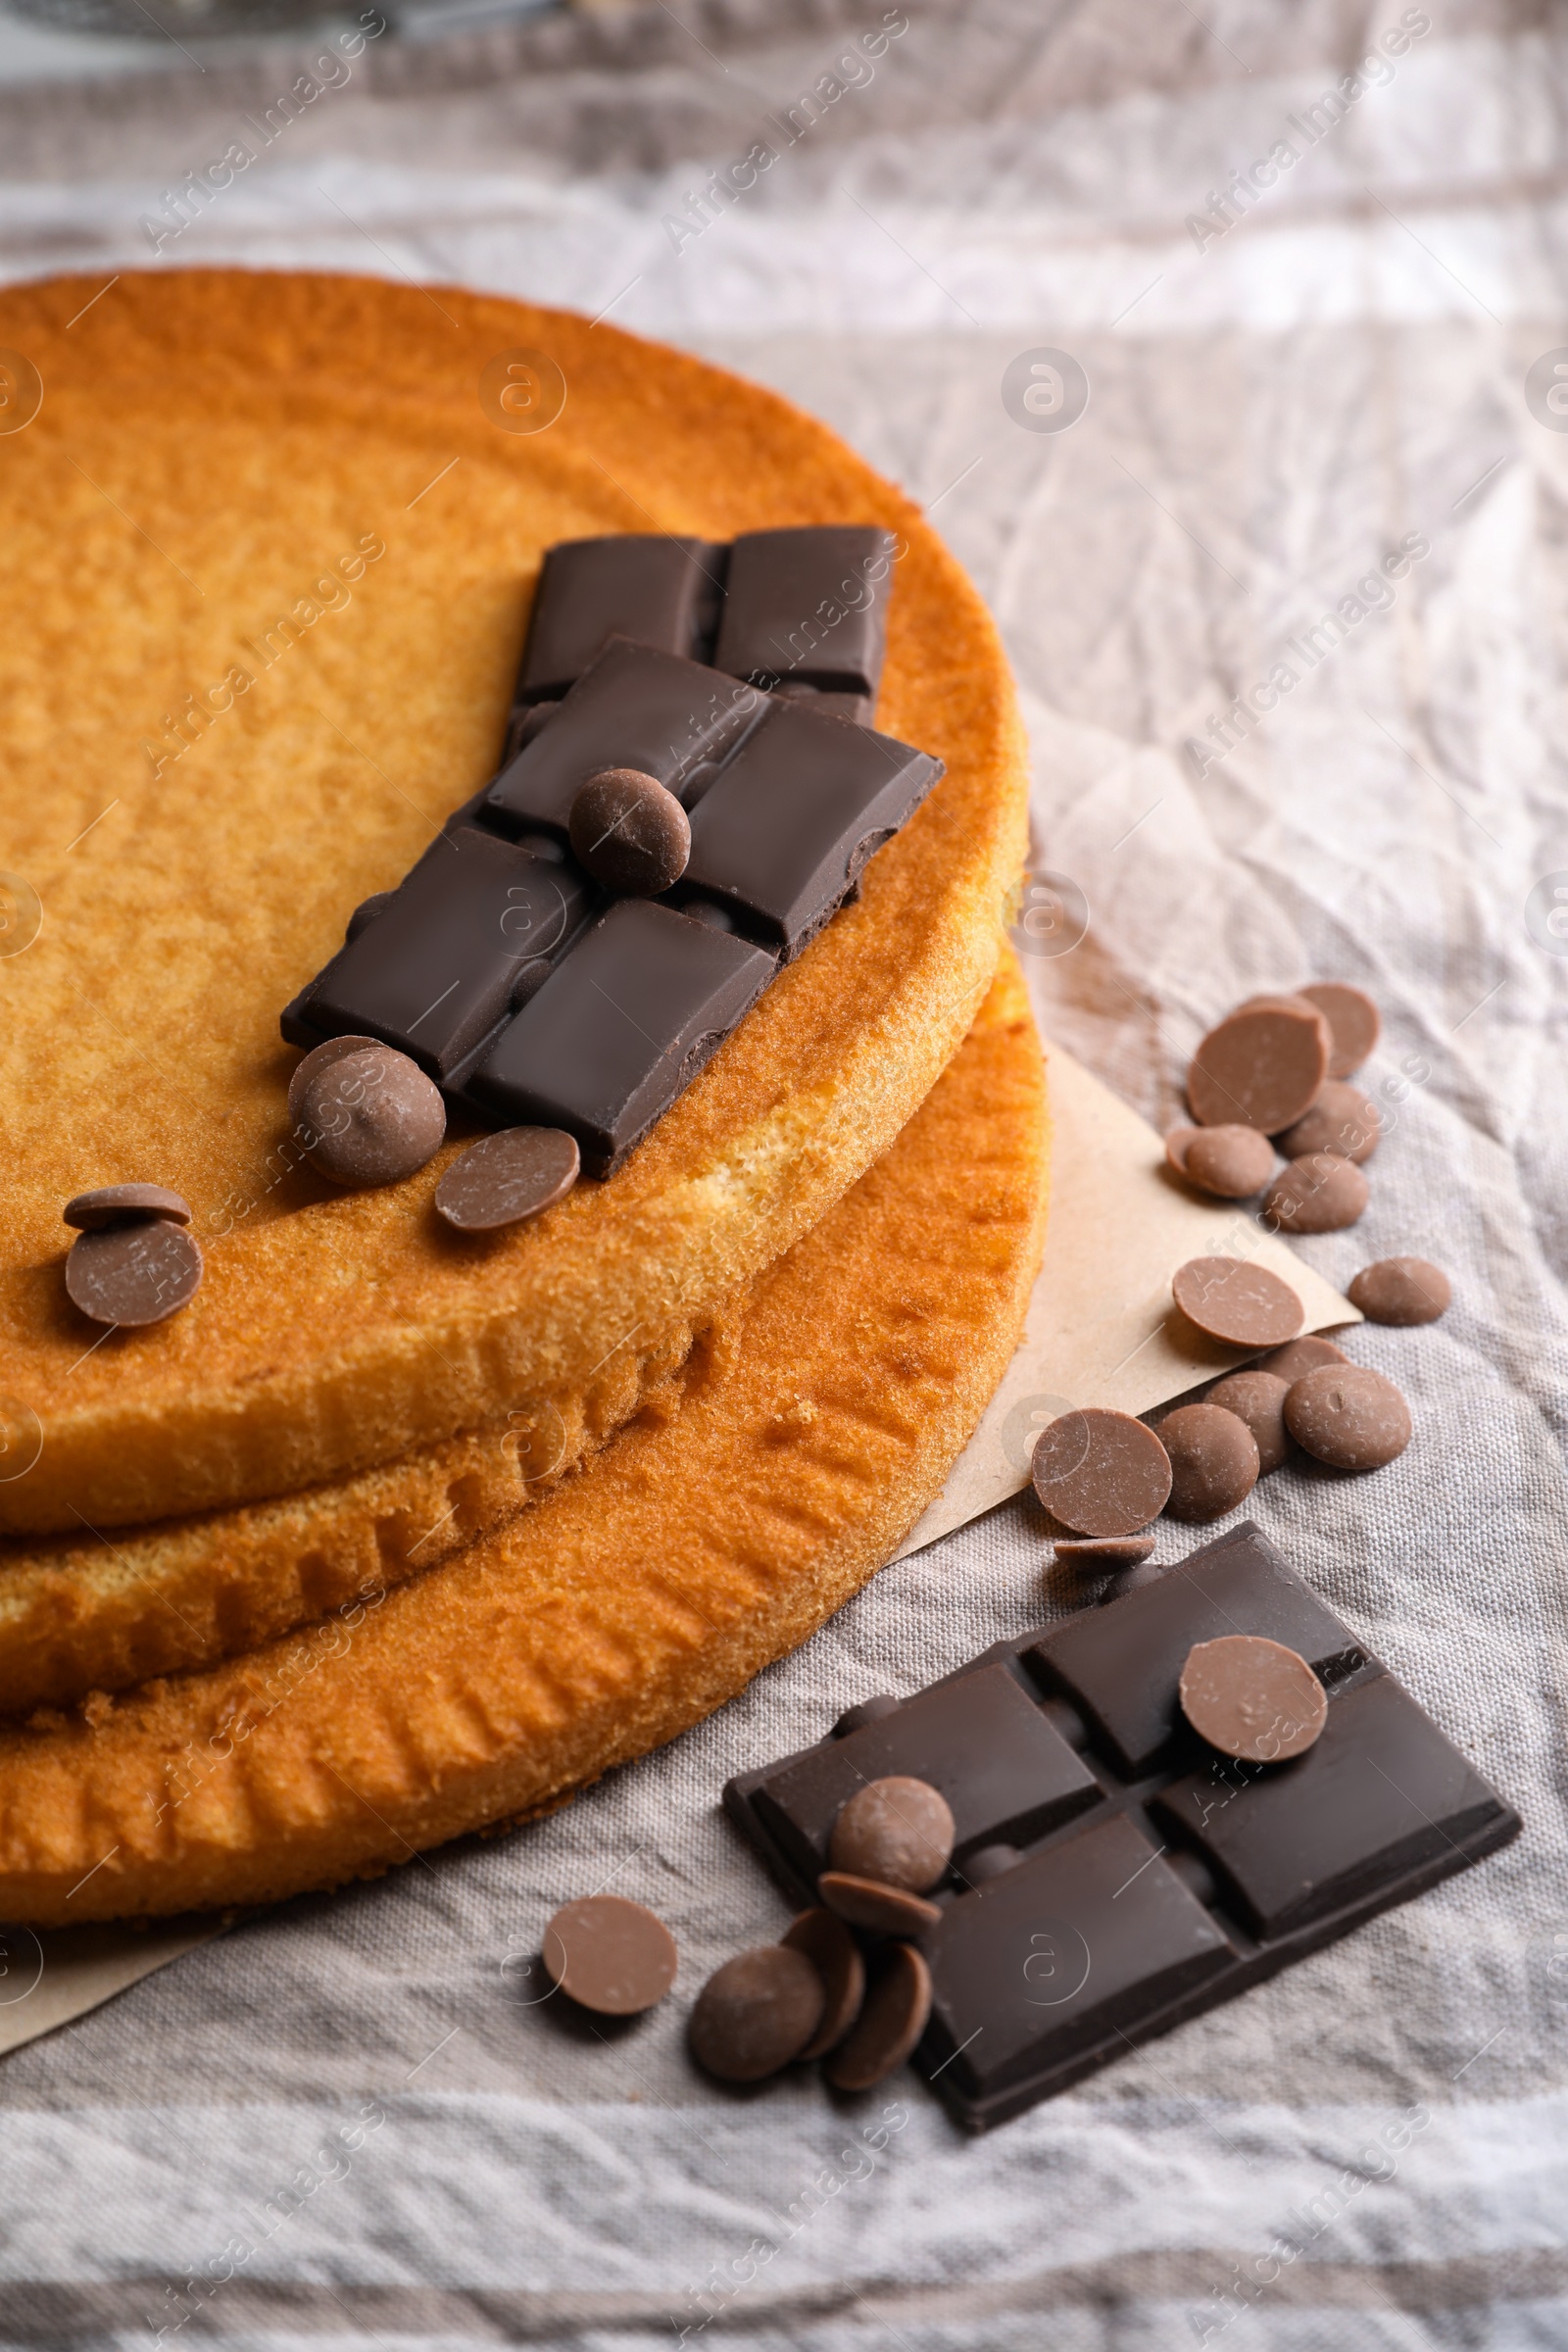
M 705 2086 L 689 1997 L 788 1917 L 722 1780 L 1070 1606 L 1006 1505 L 559 1816 L 237 1926 L 5 2060 L 0 2343 L 1561 2352 L 1568 419 L 1526 374 L 1568 343 L 1563 19 L 1403 12 L 1342 80 L 1368 21 L 1328 0 L 905 0 L 879 54 L 879 9 L 679 14 L 383 35 L 158 256 L 141 214 L 306 52 L 0 96 L 7 270 L 614 306 L 933 508 L 1018 668 L 1039 861 L 1088 898 L 1030 964 L 1044 1025 L 1168 1124 L 1237 997 L 1342 976 L 1385 1009 L 1373 1204 L 1305 1249 L 1340 1284 L 1429 1254 L 1455 1305 L 1352 1338 L 1415 1406 L 1392 1470 L 1251 1508 L 1526 1835 L 980 2143 L 907 2072 L 837 2110 Z M 1051 393 L 1004 405 L 1041 348 L 1086 374 L 1065 430 Z M 529 1966 L 599 1884 L 682 1945 L 677 1999 L 604 2037 Z

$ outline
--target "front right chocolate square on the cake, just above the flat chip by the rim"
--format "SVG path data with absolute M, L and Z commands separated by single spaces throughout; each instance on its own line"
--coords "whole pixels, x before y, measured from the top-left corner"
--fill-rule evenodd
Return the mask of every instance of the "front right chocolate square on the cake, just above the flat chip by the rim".
M 475 1103 L 564 1127 L 592 1176 L 616 1169 L 773 978 L 773 957 L 649 898 L 621 898 L 501 1033 Z

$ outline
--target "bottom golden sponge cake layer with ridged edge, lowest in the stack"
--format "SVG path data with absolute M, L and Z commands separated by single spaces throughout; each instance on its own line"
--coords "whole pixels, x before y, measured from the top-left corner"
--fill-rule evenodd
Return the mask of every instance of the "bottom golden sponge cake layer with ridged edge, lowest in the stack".
M 0 1731 L 0 1917 L 266 1900 L 545 1806 L 741 1691 L 889 1557 L 1016 1345 L 1046 1094 L 1006 960 L 893 1148 L 661 1428 L 498 1536 L 197 1675 Z

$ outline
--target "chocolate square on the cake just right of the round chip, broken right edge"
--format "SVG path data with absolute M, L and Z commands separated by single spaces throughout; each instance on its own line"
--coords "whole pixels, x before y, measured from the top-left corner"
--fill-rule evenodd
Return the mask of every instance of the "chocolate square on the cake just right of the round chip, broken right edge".
M 940 760 L 893 736 L 773 701 L 691 814 L 679 901 L 726 906 L 790 960 L 940 774 Z

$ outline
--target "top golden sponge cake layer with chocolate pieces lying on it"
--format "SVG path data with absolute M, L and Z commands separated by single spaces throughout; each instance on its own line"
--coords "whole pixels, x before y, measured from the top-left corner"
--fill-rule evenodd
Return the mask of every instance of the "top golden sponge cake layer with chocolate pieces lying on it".
M 96 292 L 0 296 L 0 343 L 45 386 L 0 440 L 0 868 L 42 906 L 0 955 L 5 1461 L 40 1439 L 0 1475 L 12 1534 L 292 1494 L 585 1392 L 632 1336 L 701 1324 L 924 1098 L 1023 858 L 1023 743 L 980 600 L 783 400 L 449 289 L 127 273 L 82 313 Z M 538 435 L 501 430 L 477 390 L 524 346 L 567 381 Z M 879 722 L 947 762 L 860 903 L 611 1183 L 529 1228 L 475 1242 L 433 1218 L 456 1143 L 381 1192 L 280 1174 L 277 1014 L 494 769 L 541 550 L 842 520 L 900 534 Z M 193 1202 L 207 1279 L 172 1322 L 94 1345 L 59 1211 L 136 1178 Z

